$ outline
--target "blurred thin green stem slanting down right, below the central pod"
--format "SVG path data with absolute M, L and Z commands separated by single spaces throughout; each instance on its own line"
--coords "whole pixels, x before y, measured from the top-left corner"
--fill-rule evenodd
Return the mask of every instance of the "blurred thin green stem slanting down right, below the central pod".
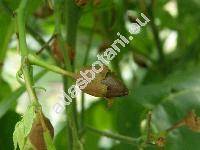
M 94 132 L 101 136 L 106 136 L 108 138 L 119 140 L 121 142 L 131 144 L 131 145 L 138 145 L 141 141 L 141 138 L 132 138 L 132 137 L 128 137 L 128 136 L 124 136 L 124 135 L 120 135 L 120 134 L 114 134 L 114 133 L 110 133 L 110 132 L 100 131 L 100 130 L 95 129 L 90 126 L 86 126 L 86 128 L 88 129 L 88 131 Z

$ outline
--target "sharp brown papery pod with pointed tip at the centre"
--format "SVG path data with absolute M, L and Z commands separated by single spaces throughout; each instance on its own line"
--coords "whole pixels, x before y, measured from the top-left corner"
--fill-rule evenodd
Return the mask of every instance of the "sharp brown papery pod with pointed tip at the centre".
M 94 79 L 89 83 L 87 80 L 87 86 L 81 89 L 83 92 L 96 96 L 96 97 L 105 97 L 105 98 L 113 98 L 128 95 L 128 89 L 123 84 L 122 81 L 116 78 L 116 76 L 111 73 L 108 67 L 103 66 L 103 70 L 100 73 L 94 73 L 92 71 L 92 67 L 84 68 L 81 71 L 85 72 L 90 70 L 91 78 L 94 74 Z M 78 73 L 76 75 L 76 79 L 82 78 L 82 75 Z

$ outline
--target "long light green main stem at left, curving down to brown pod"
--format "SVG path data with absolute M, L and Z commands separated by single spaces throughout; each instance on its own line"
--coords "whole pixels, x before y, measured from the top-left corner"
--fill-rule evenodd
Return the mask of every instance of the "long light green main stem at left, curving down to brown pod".
M 40 104 L 38 102 L 38 98 L 35 92 L 35 89 L 33 88 L 34 81 L 33 81 L 33 72 L 32 72 L 32 66 L 29 63 L 28 60 L 28 47 L 26 44 L 26 30 L 25 30 L 25 23 L 26 23 L 26 8 L 28 5 L 29 0 L 22 0 L 18 9 L 18 14 L 17 14 L 17 27 L 18 27 L 18 35 L 19 35 L 19 49 L 21 53 L 21 70 L 24 76 L 25 80 L 25 86 L 26 90 L 29 95 L 29 99 L 34 102 L 37 106 L 36 110 L 39 113 L 39 118 L 42 123 L 42 127 L 45 132 L 49 134 L 49 130 L 45 125 L 44 117 L 42 114 L 42 110 L 40 107 Z

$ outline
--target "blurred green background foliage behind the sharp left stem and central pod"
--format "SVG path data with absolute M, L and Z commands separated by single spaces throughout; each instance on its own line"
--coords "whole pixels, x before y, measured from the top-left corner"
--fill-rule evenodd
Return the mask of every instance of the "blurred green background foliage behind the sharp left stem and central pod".
M 24 42 L 22 32 L 28 53 L 77 72 L 94 62 L 117 32 L 128 36 L 127 26 L 140 13 L 151 22 L 109 65 L 129 88 L 112 107 L 104 98 L 82 94 L 56 114 L 53 106 L 73 81 L 33 67 L 33 91 L 53 124 L 53 144 L 56 149 L 200 149 L 199 0 L 28 0 L 23 7 L 24 2 L 0 0 L 0 149 L 14 149 L 15 125 L 31 105 L 16 79 L 20 58 L 26 57 L 23 44 L 20 50 L 17 44 Z

